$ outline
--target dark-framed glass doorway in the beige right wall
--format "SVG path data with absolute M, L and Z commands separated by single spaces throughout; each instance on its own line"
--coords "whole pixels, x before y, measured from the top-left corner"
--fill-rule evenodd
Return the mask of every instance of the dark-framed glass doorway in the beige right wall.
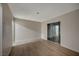
M 47 24 L 47 39 L 56 43 L 60 43 L 60 22 Z

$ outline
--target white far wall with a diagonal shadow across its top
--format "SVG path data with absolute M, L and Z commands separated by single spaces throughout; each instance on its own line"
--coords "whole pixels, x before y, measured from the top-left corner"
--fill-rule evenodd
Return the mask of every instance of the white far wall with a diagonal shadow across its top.
M 23 19 L 15 19 L 15 43 L 24 44 L 41 38 L 41 23 Z

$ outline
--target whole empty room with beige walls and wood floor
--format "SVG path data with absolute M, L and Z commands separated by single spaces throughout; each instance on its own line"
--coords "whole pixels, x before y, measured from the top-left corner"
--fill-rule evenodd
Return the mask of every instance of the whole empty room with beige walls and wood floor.
M 79 56 L 79 3 L 0 3 L 1 56 Z

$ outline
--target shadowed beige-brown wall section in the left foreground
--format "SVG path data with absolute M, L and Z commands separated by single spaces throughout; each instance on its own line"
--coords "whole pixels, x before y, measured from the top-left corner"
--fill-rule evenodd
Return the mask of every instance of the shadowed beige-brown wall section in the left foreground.
M 2 50 L 3 55 L 8 55 L 12 47 L 12 14 L 8 7 L 8 4 L 2 4 L 3 8 L 3 40 Z

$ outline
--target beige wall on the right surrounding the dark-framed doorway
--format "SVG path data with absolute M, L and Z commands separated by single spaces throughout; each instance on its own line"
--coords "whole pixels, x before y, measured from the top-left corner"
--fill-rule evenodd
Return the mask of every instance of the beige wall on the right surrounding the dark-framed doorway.
M 72 11 L 43 23 L 43 38 L 47 38 L 47 23 L 61 22 L 61 45 L 79 52 L 79 10 Z

